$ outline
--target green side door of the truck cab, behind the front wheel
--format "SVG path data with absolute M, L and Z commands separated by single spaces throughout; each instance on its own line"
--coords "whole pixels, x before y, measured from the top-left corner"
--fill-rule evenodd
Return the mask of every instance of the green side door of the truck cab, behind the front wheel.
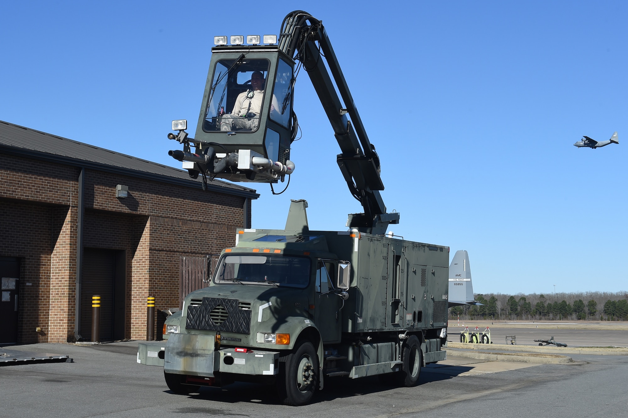
M 314 296 L 314 321 L 323 338 L 323 343 L 340 341 L 340 306 L 342 299 L 335 294 L 333 277 L 337 263 L 318 260 L 316 289 Z

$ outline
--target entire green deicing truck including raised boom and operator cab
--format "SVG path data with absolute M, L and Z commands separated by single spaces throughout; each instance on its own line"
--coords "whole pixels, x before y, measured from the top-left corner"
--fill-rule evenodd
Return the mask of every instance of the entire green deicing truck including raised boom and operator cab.
M 210 261 L 209 286 L 166 319 L 167 341 L 139 343 L 138 363 L 164 367 L 175 393 L 264 382 L 290 405 L 305 404 L 337 376 L 417 385 L 422 366 L 446 358 L 449 248 L 386 235 L 399 213 L 388 213 L 379 193 L 379 157 L 323 24 L 295 11 L 278 42 L 271 35 L 246 36 L 249 45 L 244 36 L 231 36 L 231 45 L 227 36 L 214 40 L 195 138 L 187 121 L 174 121 L 178 134 L 168 137 L 183 150 L 169 154 L 203 184 L 289 181 L 302 67 L 364 213 L 349 215 L 349 230 L 315 231 L 307 202 L 293 200 L 283 230 L 237 230 L 235 247 Z

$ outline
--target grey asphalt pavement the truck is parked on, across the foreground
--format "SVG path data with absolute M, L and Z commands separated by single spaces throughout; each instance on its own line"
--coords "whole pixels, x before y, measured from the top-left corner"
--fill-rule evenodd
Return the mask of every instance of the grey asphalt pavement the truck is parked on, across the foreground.
M 625 417 L 628 356 L 573 355 L 577 365 L 512 365 L 450 356 L 421 370 L 418 387 L 377 378 L 327 379 L 315 402 L 278 403 L 274 387 L 234 383 L 171 394 L 163 369 L 139 365 L 134 341 L 16 350 L 67 354 L 74 363 L 0 367 L 0 417 Z

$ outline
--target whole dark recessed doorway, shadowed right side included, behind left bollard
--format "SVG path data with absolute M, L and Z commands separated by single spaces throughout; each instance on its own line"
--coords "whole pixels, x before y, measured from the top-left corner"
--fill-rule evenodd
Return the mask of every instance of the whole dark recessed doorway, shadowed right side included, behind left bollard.
M 100 296 L 100 341 L 124 339 L 124 251 L 84 249 L 80 335 L 92 338 L 92 296 Z

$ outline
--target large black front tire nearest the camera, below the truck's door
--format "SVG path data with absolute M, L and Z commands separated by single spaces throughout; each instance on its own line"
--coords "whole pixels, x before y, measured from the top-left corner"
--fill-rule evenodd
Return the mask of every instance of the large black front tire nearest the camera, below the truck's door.
M 310 402 L 318 387 L 318 356 L 310 341 L 302 341 L 281 358 L 279 363 L 279 397 L 286 405 L 300 406 Z

